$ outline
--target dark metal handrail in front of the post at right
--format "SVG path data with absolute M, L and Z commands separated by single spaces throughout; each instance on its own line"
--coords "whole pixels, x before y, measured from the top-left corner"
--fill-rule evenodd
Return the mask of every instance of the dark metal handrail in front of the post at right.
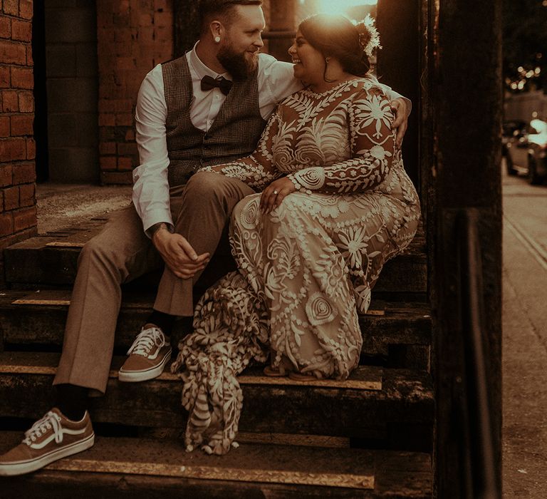
M 484 354 L 484 304 L 482 264 L 477 220 L 474 209 L 463 210 L 457 218 L 460 273 L 460 305 L 464 346 L 462 405 L 459 430 L 462 432 L 462 482 L 466 497 L 501 499 L 496 479 L 491 401 Z

